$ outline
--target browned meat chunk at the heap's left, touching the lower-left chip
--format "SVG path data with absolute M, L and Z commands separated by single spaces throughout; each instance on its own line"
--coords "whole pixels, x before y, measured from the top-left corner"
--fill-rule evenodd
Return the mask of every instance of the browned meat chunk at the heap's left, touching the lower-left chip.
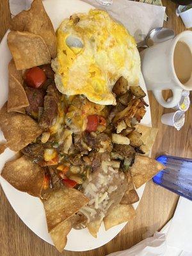
M 21 152 L 35 161 L 35 163 L 44 160 L 44 146 L 42 144 L 31 143 L 22 148 Z

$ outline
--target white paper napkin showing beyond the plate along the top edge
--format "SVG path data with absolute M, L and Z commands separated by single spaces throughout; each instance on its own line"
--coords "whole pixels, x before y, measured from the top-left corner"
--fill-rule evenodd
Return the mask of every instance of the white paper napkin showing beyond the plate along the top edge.
M 44 0 L 46 1 L 46 0 Z M 54 0 L 52 0 L 54 3 Z M 65 0 L 63 0 L 65 1 Z M 165 7 L 128 0 L 114 0 L 110 6 L 102 6 L 96 0 L 82 0 L 96 8 L 107 10 L 111 17 L 124 24 L 136 42 L 145 39 L 151 29 L 162 27 Z M 12 15 L 29 8 L 31 0 L 10 0 Z

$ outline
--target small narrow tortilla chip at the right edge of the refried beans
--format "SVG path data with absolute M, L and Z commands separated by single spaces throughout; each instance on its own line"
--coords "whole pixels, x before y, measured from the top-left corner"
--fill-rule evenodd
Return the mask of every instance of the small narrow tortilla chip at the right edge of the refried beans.
M 120 204 L 134 204 L 140 200 L 138 193 L 134 188 L 134 184 L 132 183 L 131 174 L 127 173 L 127 180 L 128 180 L 128 189 L 125 191 L 125 195 L 122 198 Z

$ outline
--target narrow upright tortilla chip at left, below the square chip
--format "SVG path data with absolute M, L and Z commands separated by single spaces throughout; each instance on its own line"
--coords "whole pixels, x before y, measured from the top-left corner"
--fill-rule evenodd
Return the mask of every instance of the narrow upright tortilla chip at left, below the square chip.
M 22 71 L 17 70 L 13 60 L 8 65 L 9 70 L 9 92 L 8 92 L 8 112 L 20 111 L 29 106 L 28 97 L 22 86 Z

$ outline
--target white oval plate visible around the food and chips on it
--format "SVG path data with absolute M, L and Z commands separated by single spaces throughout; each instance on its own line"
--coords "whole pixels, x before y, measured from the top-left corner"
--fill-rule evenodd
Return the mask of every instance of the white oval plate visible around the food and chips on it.
M 70 17 L 73 13 L 78 12 L 88 12 L 93 6 L 90 4 L 83 3 L 79 0 L 45 0 L 44 1 L 45 10 L 47 11 L 54 29 L 57 29 L 60 25 L 60 22 Z M 0 56 L 1 56 L 1 66 L 0 66 L 0 77 L 1 77 L 1 93 L 0 93 L 0 108 L 3 106 L 4 102 L 8 97 L 8 63 L 11 60 L 11 54 L 8 50 L 6 44 L 7 34 L 4 35 L 3 40 L 0 44 Z M 143 76 L 141 75 L 140 84 L 145 93 L 147 94 L 147 89 Z M 148 96 L 145 97 L 146 102 L 148 103 Z M 151 125 L 151 116 L 150 108 L 147 108 L 147 113 L 145 114 L 143 124 Z M 4 140 L 2 132 L 0 132 L 0 141 Z M 0 170 L 2 170 L 4 163 L 11 159 L 15 155 L 15 152 L 9 150 L 8 148 L 0 156 Z M 8 201 L 12 205 L 15 212 L 18 214 L 19 218 L 39 237 L 47 241 L 47 243 L 52 244 L 51 237 L 47 231 L 47 223 L 45 220 L 45 212 L 42 202 L 38 198 L 23 193 L 13 188 L 6 180 L 0 177 L 1 186 L 3 191 L 8 198 Z M 138 189 L 138 195 L 143 195 L 145 185 Z M 139 202 L 134 204 L 136 208 Z M 70 251 L 86 251 L 98 248 L 103 244 L 108 243 L 115 237 L 126 225 L 122 223 L 116 227 L 109 229 L 108 231 L 104 230 L 104 225 L 100 227 L 98 238 L 95 239 L 92 237 L 88 230 L 85 228 L 83 230 L 74 230 L 72 229 L 68 234 L 68 241 L 65 247 L 66 250 Z

